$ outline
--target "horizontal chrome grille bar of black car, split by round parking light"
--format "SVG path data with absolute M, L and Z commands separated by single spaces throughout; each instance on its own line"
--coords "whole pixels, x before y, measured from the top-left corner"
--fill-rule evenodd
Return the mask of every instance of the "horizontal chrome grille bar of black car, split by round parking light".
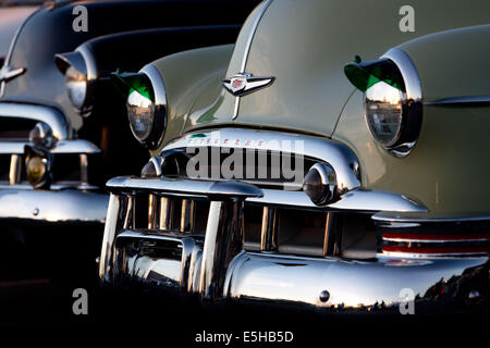
M 32 146 L 28 141 L 0 141 L 0 154 L 23 154 L 25 146 Z M 50 150 L 50 153 L 99 153 L 102 150 L 85 139 L 61 140 Z

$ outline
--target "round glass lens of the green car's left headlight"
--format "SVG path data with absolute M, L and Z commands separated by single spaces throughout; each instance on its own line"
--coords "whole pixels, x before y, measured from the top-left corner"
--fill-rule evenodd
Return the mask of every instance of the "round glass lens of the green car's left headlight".
M 144 141 L 151 133 L 155 120 L 155 103 L 140 92 L 133 90 L 127 97 L 127 116 L 136 139 Z

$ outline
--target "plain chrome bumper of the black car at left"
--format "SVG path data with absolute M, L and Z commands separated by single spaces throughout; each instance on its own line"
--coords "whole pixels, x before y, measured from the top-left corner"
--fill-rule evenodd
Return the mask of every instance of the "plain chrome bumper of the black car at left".
M 0 220 L 103 223 L 109 196 L 78 189 L 0 189 Z

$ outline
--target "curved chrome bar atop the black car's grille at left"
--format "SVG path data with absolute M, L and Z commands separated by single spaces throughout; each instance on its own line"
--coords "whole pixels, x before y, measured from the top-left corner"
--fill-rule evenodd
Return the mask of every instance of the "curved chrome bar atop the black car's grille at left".
M 16 117 L 41 121 L 48 124 L 58 140 L 71 138 L 66 117 L 56 109 L 12 102 L 0 102 L 0 117 Z

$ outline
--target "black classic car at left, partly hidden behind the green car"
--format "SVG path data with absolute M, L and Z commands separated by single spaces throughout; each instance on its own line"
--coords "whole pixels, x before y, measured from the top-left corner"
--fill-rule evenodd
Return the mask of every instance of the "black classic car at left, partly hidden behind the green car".
M 136 173 L 147 157 L 110 73 L 233 42 L 257 2 L 47 1 L 22 24 L 0 74 L 0 239 L 13 245 L 5 264 L 61 276 L 66 266 L 76 276 L 79 263 L 94 274 L 103 184 Z M 86 30 L 74 29 L 79 7 Z

